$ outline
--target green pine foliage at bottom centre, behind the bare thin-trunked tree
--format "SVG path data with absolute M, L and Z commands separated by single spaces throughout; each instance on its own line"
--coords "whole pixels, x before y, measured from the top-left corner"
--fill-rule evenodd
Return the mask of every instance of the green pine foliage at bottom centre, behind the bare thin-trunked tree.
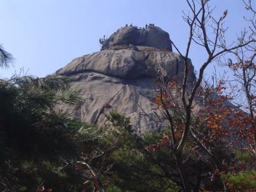
M 140 137 L 132 130 L 129 118 L 124 115 L 111 111 L 108 119 L 112 124 L 106 143 L 116 143 L 116 147 L 108 157 L 108 161 L 113 162 L 113 168 L 104 175 L 106 186 L 113 184 L 122 191 L 182 191 L 182 180 L 170 143 L 163 140 L 169 134 L 168 129 L 163 132 L 148 132 Z M 200 124 L 198 121 L 194 125 L 196 127 Z M 228 160 L 229 155 L 220 150 L 221 143 L 217 144 L 217 147 L 212 146 L 212 153 L 232 165 Z M 195 141 L 189 138 L 184 147 L 184 154 L 188 153 L 184 168 L 187 170 L 191 189 L 221 191 L 223 182 L 220 175 L 214 173 L 216 166 L 204 151 L 195 151 L 193 146 L 196 146 Z

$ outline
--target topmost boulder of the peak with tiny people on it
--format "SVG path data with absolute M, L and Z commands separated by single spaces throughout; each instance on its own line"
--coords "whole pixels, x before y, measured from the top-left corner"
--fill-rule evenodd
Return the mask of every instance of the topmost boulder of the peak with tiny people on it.
M 134 26 L 120 28 L 113 35 L 109 36 L 108 39 L 104 40 L 102 50 L 129 44 L 156 47 L 161 51 L 172 51 L 172 42 L 169 34 L 153 25 L 147 28 L 137 28 Z

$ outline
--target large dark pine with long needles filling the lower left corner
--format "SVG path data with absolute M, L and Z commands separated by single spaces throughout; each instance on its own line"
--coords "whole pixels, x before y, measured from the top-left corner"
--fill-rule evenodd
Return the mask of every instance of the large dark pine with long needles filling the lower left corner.
M 76 161 L 98 150 L 104 134 L 60 108 L 83 102 L 65 83 L 34 77 L 0 80 L 1 190 L 84 189 L 88 175 L 76 169 Z

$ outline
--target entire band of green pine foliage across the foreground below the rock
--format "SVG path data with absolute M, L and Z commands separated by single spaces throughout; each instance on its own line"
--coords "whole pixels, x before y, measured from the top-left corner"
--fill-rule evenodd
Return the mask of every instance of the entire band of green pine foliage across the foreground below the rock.
M 12 61 L 0 46 L 0 67 Z M 83 102 L 79 90 L 67 83 L 65 78 L 0 79 L 1 191 L 97 191 L 102 183 L 108 192 L 182 191 L 168 127 L 138 136 L 129 118 L 115 111 L 106 116 L 108 132 L 81 124 L 74 113 L 63 109 Z M 206 132 L 205 118 L 204 113 L 191 118 L 195 131 Z M 182 149 L 180 159 L 193 191 L 221 191 L 223 181 L 228 190 L 255 189 L 255 154 L 227 154 L 217 139 L 209 148 L 216 161 L 228 165 L 225 171 L 216 169 L 216 162 L 193 136 Z M 234 162 L 231 156 L 236 157 Z

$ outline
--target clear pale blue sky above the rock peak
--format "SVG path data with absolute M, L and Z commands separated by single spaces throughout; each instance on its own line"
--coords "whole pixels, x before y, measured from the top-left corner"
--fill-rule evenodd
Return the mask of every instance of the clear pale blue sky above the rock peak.
M 211 0 L 214 14 L 228 10 L 227 40 L 236 40 L 246 26 L 247 15 L 241 0 Z M 14 67 L 1 69 L 0 77 L 10 77 L 20 68 L 44 77 L 83 54 L 99 51 L 99 38 L 111 35 L 125 24 L 154 23 L 170 34 L 184 51 L 188 26 L 182 20 L 188 11 L 185 0 L 1 0 L 0 43 L 16 58 Z M 198 70 L 206 54 L 193 47 L 189 57 Z M 207 70 L 211 74 L 212 67 Z

